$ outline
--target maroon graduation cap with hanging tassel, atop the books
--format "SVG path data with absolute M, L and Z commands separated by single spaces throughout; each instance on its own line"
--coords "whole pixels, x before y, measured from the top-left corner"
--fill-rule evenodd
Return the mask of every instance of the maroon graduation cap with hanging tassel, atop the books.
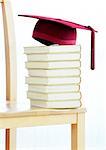
M 32 37 L 47 46 L 52 44 L 59 45 L 75 45 L 77 39 L 76 29 L 91 31 L 91 69 L 95 69 L 95 32 L 91 26 L 84 26 L 70 21 L 33 16 L 33 15 L 18 15 L 38 19 Z

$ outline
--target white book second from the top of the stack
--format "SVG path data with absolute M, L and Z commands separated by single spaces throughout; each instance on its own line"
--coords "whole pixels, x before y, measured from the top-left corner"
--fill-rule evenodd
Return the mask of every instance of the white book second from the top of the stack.
M 79 60 L 80 53 L 65 53 L 65 54 L 29 54 L 27 55 L 28 61 L 69 61 Z

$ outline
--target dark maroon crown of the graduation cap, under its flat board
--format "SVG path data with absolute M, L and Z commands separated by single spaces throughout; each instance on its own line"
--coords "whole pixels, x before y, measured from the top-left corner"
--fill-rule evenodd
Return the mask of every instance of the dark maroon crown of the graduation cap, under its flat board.
M 54 21 L 38 20 L 32 37 L 45 45 L 74 45 L 76 29 Z

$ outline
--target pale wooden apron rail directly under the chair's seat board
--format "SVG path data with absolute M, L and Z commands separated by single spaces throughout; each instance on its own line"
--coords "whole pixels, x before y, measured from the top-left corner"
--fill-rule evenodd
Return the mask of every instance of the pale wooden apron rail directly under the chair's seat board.
M 22 116 L 0 118 L 0 128 L 19 128 L 76 123 L 76 115 Z

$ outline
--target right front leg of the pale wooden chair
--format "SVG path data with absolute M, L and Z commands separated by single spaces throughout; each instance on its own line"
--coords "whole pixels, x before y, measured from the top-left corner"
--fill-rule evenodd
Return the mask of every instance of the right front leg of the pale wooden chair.
M 85 114 L 78 114 L 77 124 L 71 125 L 71 150 L 85 150 Z

